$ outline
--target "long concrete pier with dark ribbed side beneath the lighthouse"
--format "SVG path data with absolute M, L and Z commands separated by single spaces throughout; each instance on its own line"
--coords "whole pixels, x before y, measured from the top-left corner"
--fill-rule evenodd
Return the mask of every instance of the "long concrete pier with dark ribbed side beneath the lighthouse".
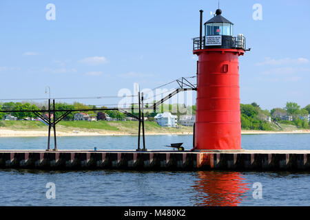
M 304 170 L 310 151 L 0 151 L 0 168 L 49 170 Z

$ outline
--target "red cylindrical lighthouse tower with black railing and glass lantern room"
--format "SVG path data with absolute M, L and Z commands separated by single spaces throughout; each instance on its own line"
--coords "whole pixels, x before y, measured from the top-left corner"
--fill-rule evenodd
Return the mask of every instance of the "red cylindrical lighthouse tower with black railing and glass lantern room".
M 200 37 L 194 39 L 198 56 L 194 151 L 240 150 L 240 96 L 238 57 L 245 53 L 245 37 L 233 36 L 234 24 L 220 9 L 204 24 L 200 10 Z

